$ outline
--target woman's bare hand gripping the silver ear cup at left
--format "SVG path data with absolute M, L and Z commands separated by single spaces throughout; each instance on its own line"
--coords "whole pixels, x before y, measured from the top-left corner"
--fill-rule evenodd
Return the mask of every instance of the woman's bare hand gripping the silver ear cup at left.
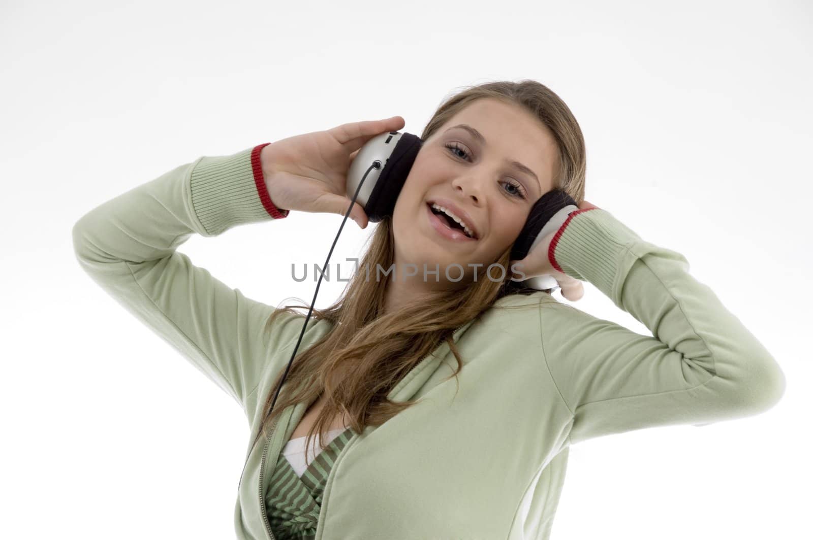
M 404 127 L 404 119 L 344 123 L 324 132 L 278 140 L 260 150 L 268 196 L 280 210 L 345 215 L 347 173 L 359 149 L 376 135 Z M 358 202 L 350 218 L 367 227 L 367 214 Z

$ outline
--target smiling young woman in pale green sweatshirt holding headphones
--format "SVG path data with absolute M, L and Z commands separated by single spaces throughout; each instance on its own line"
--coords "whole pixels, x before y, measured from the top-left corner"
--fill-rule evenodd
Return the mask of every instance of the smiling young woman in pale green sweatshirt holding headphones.
M 548 538 L 572 444 L 780 400 L 779 365 L 685 257 L 584 201 L 579 125 L 525 80 L 466 89 L 436 111 L 393 215 L 340 300 L 314 309 L 271 409 L 305 316 L 246 298 L 176 248 L 291 211 L 345 214 L 355 153 L 403 126 L 349 123 L 198 158 L 74 227 L 93 279 L 246 411 L 238 538 Z M 511 261 L 554 188 L 580 210 Z M 448 212 L 465 238 L 446 231 L 452 218 L 437 214 Z M 351 217 L 367 227 L 360 205 Z M 523 288 L 516 262 L 554 274 L 568 300 L 593 283 L 655 337 Z M 495 263 L 508 271 L 485 275 Z M 393 265 L 395 279 L 376 278 Z M 440 271 L 404 279 L 409 265 Z

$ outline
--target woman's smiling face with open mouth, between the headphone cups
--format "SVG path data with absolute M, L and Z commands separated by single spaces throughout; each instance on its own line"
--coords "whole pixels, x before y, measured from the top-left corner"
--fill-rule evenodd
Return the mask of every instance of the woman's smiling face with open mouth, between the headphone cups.
M 483 98 L 460 110 L 424 141 L 398 195 L 393 212 L 398 272 L 411 263 L 422 277 L 424 268 L 433 271 L 437 264 L 443 283 L 446 267 L 457 263 L 460 282 L 472 281 L 475 270 L 477 280 L 488 279 L 489 264 L 513 244 L 533 204 L 553 188 L 558 161 L 550 130 L 520 106 Z M 433 201 L 462 218 L 474 237 L 443 234 L 429 209 Z M 448 272 L 457 283 L 460 268 Z M 502 272 L 494 268 L 491 276 L 500 279 Z M 426 281 L 435 283 L 436 275 L 427 274 Z

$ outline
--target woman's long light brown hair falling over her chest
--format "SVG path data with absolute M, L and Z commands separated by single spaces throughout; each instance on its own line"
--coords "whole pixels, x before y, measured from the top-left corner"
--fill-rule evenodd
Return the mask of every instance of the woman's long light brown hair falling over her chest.
M 550 129 L 559 146 L 559 171 L 554 188 L 562 188 L 576 202 L 584 200 L 585 142 L 571 110 L 552 90 L 535 80 L 494 81 L 463 89 L 446 99 L 429 120 L 422 140 L 427 140 L 454 114 L 478 99 L 491 97 L 524 107 Z M 511 247 L 496 262 L 508 268 Z M 387 269 L 393 264 L 392 218 L 376 224 L 359 269 Z M 376 266 L 378 265 L 378 266 Z M 375 270 L 371 270 L 374 272 Z M 269 414 L 282 373 L 263 406 L 263 421 L 254 444 L 276 417 L 291 404 L 312 403 L 325 396 L 324 407 L 308 431 L 306 444 L 316 433 L 324 441 L 333 419 L 341 413 L 350 418 L 350 428 L 361 433 L 365 426 L 380 426 L 415 400 L 395 403 L 389 391 L 420 360 L 446 340 L 458 367 L 450 377 L 457 378 L 463 367 L 452 333 L 493 306 L 503 296 L 537 292 L 511 281 L 511 273 L 501 283 L 477 279 L 463 289 L 432 292 L 412 299 L 398 313 L 384 312 L 388 279 L 365 279 L 359 270 L 345 287 L 339 300 L 327 309 L 314 307 L 311 318 L 327 319 L 333 327 L 310 348 L 294 359 L 285 377 L 286 391 L 280 391 Z M 550 292 L 550 290 L 548 291 Z M 271 324 L 279 313 L 298 313 L 309 305 L 286 305 L 268 318 Z M 304 320 L 305 316 L 302 315 Z M 320 445 L 324 448 L 324 443 Z

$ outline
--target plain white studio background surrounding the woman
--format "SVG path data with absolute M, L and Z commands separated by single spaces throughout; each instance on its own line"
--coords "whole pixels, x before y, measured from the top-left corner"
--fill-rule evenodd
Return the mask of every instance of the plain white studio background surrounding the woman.
M 811 538 L 811 19 L 802 0 L 2 2 L 0 537 L 234 536 L 246 418 L 83 273 L 83 214 L 202 155 L 396 114 L 420 135 L 466 85 L 534 79 L 585 133 L 586 199 L 683 253 L 787 378 L 757 417 L 572 447 L 551 538 Z M 340 223 L 180 251 L 310 304 L 290 263 L 321 264 Z M 348 221 L 332 264 L 371 231 Z M 648 333 L 589 283 L 572 304 Z

